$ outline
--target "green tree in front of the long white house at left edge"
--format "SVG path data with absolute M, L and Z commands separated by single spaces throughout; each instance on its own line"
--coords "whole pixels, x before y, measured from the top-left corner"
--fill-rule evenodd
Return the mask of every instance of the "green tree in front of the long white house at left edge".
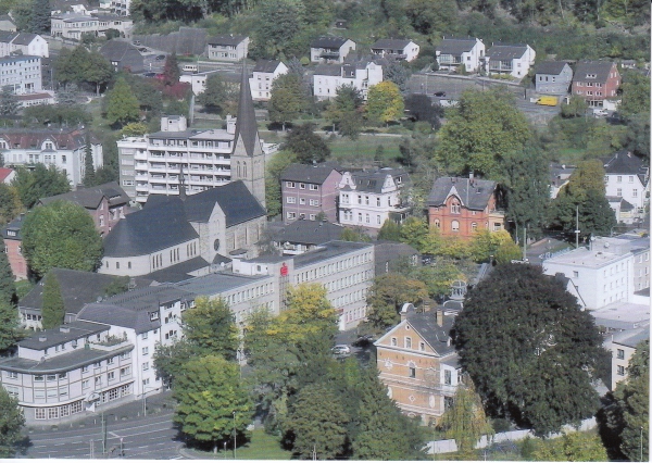
M 71 190 L 67 175 L 50 165 L 36 164 L 34 171 L 24 167 L 16 170 L 16 176 L 11 182 L 15 188 L 21 202 L 26 209 L 30 209 L 41 198 L 61 195 Z

